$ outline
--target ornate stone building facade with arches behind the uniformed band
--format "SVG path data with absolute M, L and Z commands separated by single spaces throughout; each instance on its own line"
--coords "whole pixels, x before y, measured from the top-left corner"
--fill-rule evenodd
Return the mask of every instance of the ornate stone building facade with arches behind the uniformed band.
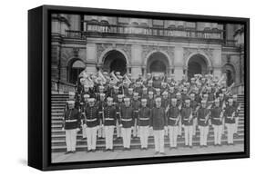
M 84 68 L 121 73 L 212 73 L 244 82 L 241 24 L 95 15 L 52 15 L 52 80 L 76 83 Z

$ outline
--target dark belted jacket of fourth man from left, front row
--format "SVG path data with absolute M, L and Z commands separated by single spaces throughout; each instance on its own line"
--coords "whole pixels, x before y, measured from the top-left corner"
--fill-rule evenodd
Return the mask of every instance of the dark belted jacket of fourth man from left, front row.
M 123 128 L 131 128 L 134 122 L 134 111 L 132 106 L 121 107 L 121 124 Z

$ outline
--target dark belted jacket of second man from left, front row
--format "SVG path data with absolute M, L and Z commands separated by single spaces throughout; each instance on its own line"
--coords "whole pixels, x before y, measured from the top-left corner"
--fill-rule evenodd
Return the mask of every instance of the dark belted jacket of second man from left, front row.
M 95 127 L 99 124 L 98 110 L 96 106 L 93 106 L 93 107 L 87 106 L 85 113 L 86 113 L 87 127 L 89 128 Z

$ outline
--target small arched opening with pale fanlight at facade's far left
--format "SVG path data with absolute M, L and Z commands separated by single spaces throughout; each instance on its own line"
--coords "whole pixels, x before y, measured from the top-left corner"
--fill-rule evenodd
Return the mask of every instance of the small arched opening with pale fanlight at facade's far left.
M 77 83 L 79 73 L 81 73 L 86 68 L 86 64 L 80 59 L 74 59 L 70 61 L 68 66 L 68 83 Z

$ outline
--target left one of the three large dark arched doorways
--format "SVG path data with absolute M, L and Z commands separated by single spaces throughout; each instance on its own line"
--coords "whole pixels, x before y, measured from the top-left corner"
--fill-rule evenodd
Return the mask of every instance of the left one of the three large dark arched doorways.
M 127 73 L 126 57 L 117 50 L 108 52 L 104 59 L 103 70 L 108 73 L 112 71 L 120 72 L 121 74 Z

